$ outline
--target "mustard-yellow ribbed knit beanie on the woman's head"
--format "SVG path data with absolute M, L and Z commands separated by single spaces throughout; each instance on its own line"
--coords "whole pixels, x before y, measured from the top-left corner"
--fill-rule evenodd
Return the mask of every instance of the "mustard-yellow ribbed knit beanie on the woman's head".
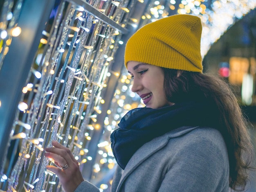
M 192 15 L 173 15 L 141 27 L 128 40 L 124 62 L 137 61 L 202 73 L 201 20 Z

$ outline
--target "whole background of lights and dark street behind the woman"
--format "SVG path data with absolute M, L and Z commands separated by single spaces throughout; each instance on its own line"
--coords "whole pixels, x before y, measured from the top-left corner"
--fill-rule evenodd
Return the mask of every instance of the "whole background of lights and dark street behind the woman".
M 0 191 L 62 191 L 43 156 L 56 140 L 86 180 L 110 192 L 110 134 L 144 107 L 130 91 L 126 41 L 174 14 L 201 18 L 204 72 L 230 83 L 256 146 L 255 8 L 255 0 L 1 0 Z M 247 188 L 256 191 L 255 172 Z

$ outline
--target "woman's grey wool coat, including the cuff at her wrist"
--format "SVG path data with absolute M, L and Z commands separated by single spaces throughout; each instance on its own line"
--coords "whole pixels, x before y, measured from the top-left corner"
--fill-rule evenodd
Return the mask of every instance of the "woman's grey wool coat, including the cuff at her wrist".
M 111 192 L 228 192 L 229 159 L 218 130 L 180 127 L 154 138 L 117 166 Z M 99 192 L 83 181 L 75 192 Z

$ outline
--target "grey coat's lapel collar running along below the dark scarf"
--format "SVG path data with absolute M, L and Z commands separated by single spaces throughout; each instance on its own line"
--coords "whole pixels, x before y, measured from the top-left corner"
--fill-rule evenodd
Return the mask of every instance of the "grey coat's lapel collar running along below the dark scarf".
M 198 127 L 198 126 L 197 126 Z M 172 130 L 171 132 L 168 132 L 162 136 L 159 136 L 157 138 L 154 138 L 148 143 L 145 143 L 142 147 L 140 147 L 137 152 L 132 156 L 128 164 L 126 165 L 126 168 L 124 169 L 124 172 L 121 176 L 121 179 L 119 181 L 119 184 L 117 186 L 117 192 L 123 185 L 125 179 L 141 164 L 143 163 L 148 157 L 153 155 L 155 152 L 162 149 L 166 144 L 168 143 L 170 138 L 175 138 L 178 136 L 181 136 L 183 134 L 186 134 L 193 129 L 197 127 L 191 127 L 191 126 L 184 126 L 177 129 Z M 150 150 L 145 150 L 150 149 Z

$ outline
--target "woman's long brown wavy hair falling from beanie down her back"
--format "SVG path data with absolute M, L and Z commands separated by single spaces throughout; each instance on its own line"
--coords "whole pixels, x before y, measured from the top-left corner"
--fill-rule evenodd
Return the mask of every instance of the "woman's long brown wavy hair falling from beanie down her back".
M 162 67 L 161 67 L 162 68 Z M 188 100 L 209 100 L 219 111 L 220 132 L 229 156 L 229 187 L 244 191 L 254 150 L 238 100 L 231 86 L 218 75 L 162 68 L 164 92 L 168 101 L 180 103 Z

